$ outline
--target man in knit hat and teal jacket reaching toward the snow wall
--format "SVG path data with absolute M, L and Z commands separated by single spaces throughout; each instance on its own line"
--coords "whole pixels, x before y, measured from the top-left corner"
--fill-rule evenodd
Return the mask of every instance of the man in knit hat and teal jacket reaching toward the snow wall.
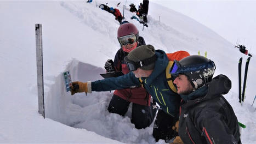
M 147 92 L 160 105 L 155 124 L 153 137 L 156 141 L 163 139 L 168 142 L 177 133 L 172 126 L 178 121 L 180 96 L 170 89 L 166 79 L 166 68 L 169 59 L 162 50 L 156 50 L 152 45 L 142 45 L 129 52 L 124 58 L 130 73 L 111 77 L 109 79 L 94 82 L 72 82 L 71 94 L 77 92 L 92 93 L 92 91 L 112 91 L 115 89 L 143 86 Z

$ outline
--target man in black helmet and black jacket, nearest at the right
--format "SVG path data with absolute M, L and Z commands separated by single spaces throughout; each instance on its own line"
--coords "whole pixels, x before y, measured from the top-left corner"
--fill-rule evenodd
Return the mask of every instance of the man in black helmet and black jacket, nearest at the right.
M 215 64 L 203 56 L 174 61 L 170 73 L 183 99 L 178 134 L 184 143 L 241 143 L 237 117 L 222 94 L 231 81 L 225 75 L 213 77 Z M 177 124 L 178 125 L 178 124 Z

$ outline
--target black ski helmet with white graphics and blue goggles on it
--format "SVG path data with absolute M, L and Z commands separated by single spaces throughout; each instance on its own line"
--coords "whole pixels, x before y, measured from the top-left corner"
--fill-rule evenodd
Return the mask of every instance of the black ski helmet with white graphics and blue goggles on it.
M 198 55 L 188 56 L 180 61 L 174 60 L 174 62 L 173 69 L 170 73 L 174 77 L 179 74 L 186 75 L 195 89 L 212 81 L 216 69 L 213 61 Z

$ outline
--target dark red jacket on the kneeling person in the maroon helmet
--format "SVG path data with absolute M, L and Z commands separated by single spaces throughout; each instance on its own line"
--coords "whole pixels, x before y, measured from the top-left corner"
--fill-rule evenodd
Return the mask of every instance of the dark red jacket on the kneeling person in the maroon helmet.
M 145 45 L 143 37 L 138 38 L 137 47 L 140 45 Z M 129 68 L 124 61 L 124 57 L 127 55 L 128 53 L 124 52 L 122 48 L 117 51 L 114 59 L 114 67 L 116 71 L 122 71 L 123 74 L 129 73 Z M 114 94 L 135 104 L 150 105 L 151 95 L 147 93 L 143 87 L 117 89 L 115 90 Z

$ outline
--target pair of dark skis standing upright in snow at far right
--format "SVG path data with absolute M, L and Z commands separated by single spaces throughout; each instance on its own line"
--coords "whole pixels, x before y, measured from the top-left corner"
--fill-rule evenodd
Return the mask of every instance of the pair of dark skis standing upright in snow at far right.
M 246 61 L 246 68 L 244 70 L 244 79 L 243 79 L 243 91 L 241 93 L 241 85 L 242 85 L 242 82 L 241 82 L 241 69 L 242 69 L 242 60 L 243 58 L 241 57 L 239 59 L 239 62 L 238 62 L 238 98 L 239 98 L 239 103 L 241 103 L 242 101 L 244 101 L 244 92 L 246 91 L 246 79 L 247 79 L 247 72 L 248 72 L 248 66 L 249 66 L 249 62 L 250 62 L 250 59 L 251 57 L 248 57 L 247 58 L 247 61 Z

